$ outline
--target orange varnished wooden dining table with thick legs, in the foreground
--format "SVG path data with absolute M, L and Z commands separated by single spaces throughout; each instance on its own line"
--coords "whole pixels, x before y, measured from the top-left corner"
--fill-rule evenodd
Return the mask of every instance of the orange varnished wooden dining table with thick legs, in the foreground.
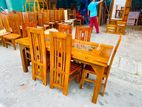
M 23 71 L 28 72 L 28 66 L 26 62 L 25 48 L 30 47 L 30 40 L 28 37 L 16 40 L 19 44 Z M 50 36 L 45 34 L 45 43 L 47 51 L 50 51 Z M 96 103 L 99 96 L 102 77 L 105 68 L 109 64 L 109 60 L 113 53 L 113 46 L 98 44 L 95 42 L 86 42 L 81 40 L 72 39 L 72 52 L 71 57 L 74 60 L 78 60 L 84 64 L 92 66 L 96 71 L 96 83 L 93 92 L 92 102 Z

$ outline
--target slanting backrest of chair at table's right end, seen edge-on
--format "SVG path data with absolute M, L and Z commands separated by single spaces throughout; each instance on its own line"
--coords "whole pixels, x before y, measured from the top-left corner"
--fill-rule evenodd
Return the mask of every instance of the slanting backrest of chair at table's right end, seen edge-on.
M 118 50 L 118 47 L 119 47 L 119 45 L 120 45 L 121 40 L 122 40 L 122 35 L 120 35 L 120 37 L 119 37 L 119 39 L 118 39 L 118 41 L 117 41 L 117 44 L 116 44 L 116 46 L 115 46 L 115 48 L 114 48 L 113 54 L 112 54 L 112 56 L 111 56 L 111 60 L 110 60 L 110 63 L 109 63 L 109 65 L 108 65 L 108 71 L 107 71 L 108 73 L 110 72 L 110 69 L 111 69 L 111 66 L 112 66 L 114 57 L 115 57 L 115 55 L 116 55 L 116 52 L 117 52 L 117 50 Z

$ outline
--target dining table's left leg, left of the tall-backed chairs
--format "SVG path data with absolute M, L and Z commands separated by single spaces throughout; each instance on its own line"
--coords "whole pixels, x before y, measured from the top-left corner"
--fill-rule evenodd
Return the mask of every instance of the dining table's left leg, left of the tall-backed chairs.
M 25 55 L 25 46 L 19 45 L 19 48 L 20 48 L 23 71 L 28 72 L 28 64 L 27 64 L 26 55 Z

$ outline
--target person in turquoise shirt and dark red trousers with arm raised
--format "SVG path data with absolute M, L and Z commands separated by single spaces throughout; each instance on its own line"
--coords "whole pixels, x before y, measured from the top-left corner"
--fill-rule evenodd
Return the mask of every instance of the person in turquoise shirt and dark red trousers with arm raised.
M 95 28 L 96 28 L 96 33 L 99 33 L 96 6 L 101 2 L 103 2 L 103 0 L 100 0 L 98 2 L 96 2 L 95 0 L 92 0 L 92 2 L 88 5 L 88 14 L 90 11 L 90 28 L 92 28 L 92 30 L 93 30 L 93 24 L 94 24 Z

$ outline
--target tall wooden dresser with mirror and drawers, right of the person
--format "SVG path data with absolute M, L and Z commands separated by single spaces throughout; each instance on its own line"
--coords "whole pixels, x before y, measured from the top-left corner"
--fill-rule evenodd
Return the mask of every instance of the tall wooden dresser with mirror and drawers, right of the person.
M 124 34 L 125 33 L 126 24 L 124 23 L 126 23 L 128 19 L 128 14 L 129 14 L 130 7 L 131 7 L 131 1 L 132 0 L 123 0 L 123 2 L 119 1 L 119 2 L 122 2 L 121 4 L 119 4 L 119 7 L 121 7 L 121 9 L 117 9 L 118 0 L 112 0 L 110 19 L 109 19 L 109 24 L 106 26 L 106 32 L 114 33 L 114 34 Z M 116 6 L 117 11 L 114 8 L 115 6 Z M 119 15 L 117 15 L 118 12 L 120 13 Z M 116 16 L 119 16 L 119 17 L 116 18 Z M 123 24 L 121 28 L 119 26 L 120 23 L 121 25 Z

